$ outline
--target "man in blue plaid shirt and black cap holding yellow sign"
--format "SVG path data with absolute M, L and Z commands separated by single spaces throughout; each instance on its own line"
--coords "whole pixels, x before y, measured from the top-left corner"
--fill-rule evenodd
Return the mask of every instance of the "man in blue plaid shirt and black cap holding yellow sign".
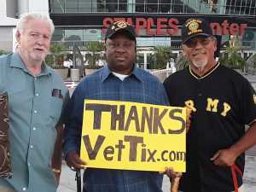
M 84 99 L 143 102 L 168 105 L 160 81 L 136 67 L 136 32 L 125 21 L 108 27 L 106 33 L 108 65 L 82 80 L 68 104 L 64 154 L 67 165 L 84 168 L 79 159 Z M 86 120 L 86 119 L 85 119 Z M 84 171 L 84 191 L 87 192 L 161 192 L 162 175 L 158 172 L 139 172 L 87 168 Z

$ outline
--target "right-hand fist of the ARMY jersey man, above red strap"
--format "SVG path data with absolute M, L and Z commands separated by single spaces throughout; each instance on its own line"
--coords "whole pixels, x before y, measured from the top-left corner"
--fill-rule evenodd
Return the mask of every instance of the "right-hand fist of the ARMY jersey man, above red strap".
M 232 166 L 237 158 L 237 154 L 230 148 L 218 150 L 211 158 L 216 166 Z

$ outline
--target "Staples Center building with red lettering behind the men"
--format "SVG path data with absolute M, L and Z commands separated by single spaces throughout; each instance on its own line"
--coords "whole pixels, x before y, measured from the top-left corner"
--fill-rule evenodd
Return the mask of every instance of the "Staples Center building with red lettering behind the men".
M 53 41 L 82 47 L 101 41 L 108 25 L 126 20 L 136 27 L 138 55 L 147 61 L 154 46 L 170 46 L 180 53 L 180 26 L 190 17 L 204 17 L 222 42 L 238 35 L 241 55 L 256 52 L 255 0 L 49 0 L 56 29 Z

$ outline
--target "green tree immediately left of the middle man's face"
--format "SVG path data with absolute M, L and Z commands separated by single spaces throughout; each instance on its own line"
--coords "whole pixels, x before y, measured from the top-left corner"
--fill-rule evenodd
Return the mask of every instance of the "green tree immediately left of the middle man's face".
M 104 43 L 99 41 L 90 41 L 85 47 L 88 53 L 85 55 L 85 61 L 88 61 L 88 68 L 98 68 L 96 62 L 103 59 L 101 52 L 104 50 Z

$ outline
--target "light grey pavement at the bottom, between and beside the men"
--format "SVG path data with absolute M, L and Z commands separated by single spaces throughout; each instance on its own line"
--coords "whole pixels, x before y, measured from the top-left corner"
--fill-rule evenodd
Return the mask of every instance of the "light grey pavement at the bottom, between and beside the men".
M 75 172 L 71 171 L 66 163 L 62 165 L 61 182 L 58 192 L 76 192 Z M 243 182 L 245 192 L 256 192 L 256 156 L 246 156 L 246 168 Z M 164 177 L 163 192 L 169 192 L 170 182 Z

